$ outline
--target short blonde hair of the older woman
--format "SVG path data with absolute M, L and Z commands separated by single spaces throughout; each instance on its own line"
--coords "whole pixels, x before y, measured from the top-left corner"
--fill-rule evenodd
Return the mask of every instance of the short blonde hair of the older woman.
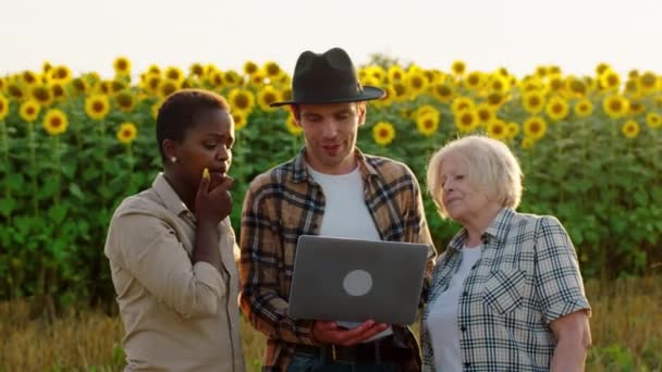
M 503 208 L 516 209 L 519 206 L 524 175 L 511 149 L 500 140 L 471 135 L 446 144 L 428 163 L 428 193 L 442 218 L 448 218 L 448 213 L 441 202 L 441 165 L 450 153 L 465 163 L 468 182 L 488 199 Z

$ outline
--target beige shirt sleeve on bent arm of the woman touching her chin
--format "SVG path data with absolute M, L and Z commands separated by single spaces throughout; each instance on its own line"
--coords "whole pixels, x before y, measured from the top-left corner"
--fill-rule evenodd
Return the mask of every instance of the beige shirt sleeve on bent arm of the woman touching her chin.
M 109 243 L 109 258 L 182 317 L 218 312 L 226 295 L 223 277 L 208 262 L 193 264 L 166 221 L 148 214 L 117 216 Z

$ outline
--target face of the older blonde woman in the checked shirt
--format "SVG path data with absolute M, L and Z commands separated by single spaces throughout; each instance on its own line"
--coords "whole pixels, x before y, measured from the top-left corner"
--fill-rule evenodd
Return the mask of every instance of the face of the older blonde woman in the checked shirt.
M 441 203 L 446 214 L 462 224 L 480 220 L 493 202 L 468 176 L 468 169 L 456 153 L 449 153 L 441 163 Z

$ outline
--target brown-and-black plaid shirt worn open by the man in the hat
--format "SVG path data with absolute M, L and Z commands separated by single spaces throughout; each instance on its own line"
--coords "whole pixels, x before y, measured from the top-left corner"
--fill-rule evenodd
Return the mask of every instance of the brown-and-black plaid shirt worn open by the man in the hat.
M 265 371 L 285 371 L 297 344 L 318 346 L 311 338 L 312 321 L 287 317 L 297 239 L 318 235 L 324 213 L 322 189 L 308 174 L 304 153 L 302 149 L 291 161 L 257 176 L 244 199 L 241 307 L 248 321 L 268 336 Z M 436 253 L 418 182 L 403 163 L 366 156 L 358 149 L 356 158 L 366 206 L 382 240 L 430 245 L 422 300 Z M 415 351 L 406 369 L 419 369 L 419 349 L 412 332 L 402 326 L 393 326 L 393 332 L 403 346 Z

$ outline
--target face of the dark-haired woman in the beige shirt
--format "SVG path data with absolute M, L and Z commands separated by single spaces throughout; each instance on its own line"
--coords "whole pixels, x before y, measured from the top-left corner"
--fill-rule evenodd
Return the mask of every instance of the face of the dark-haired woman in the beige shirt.
M 209 109 L 195 115 L 193 126 L 188 128 L 181 144 L 171 139 L 163 141 L 163 149 L 169 158 L 166 176 L 174 184 L 175 191 L 184 202 L 195 196 L 205 168 L 209 169 L 211 179 L 225 177 L 232 161 L 233 144 L 234 122 L 232 116 L 221 109 Z M 171 157 L 175 157 L 177 161 L 171 163 Z

